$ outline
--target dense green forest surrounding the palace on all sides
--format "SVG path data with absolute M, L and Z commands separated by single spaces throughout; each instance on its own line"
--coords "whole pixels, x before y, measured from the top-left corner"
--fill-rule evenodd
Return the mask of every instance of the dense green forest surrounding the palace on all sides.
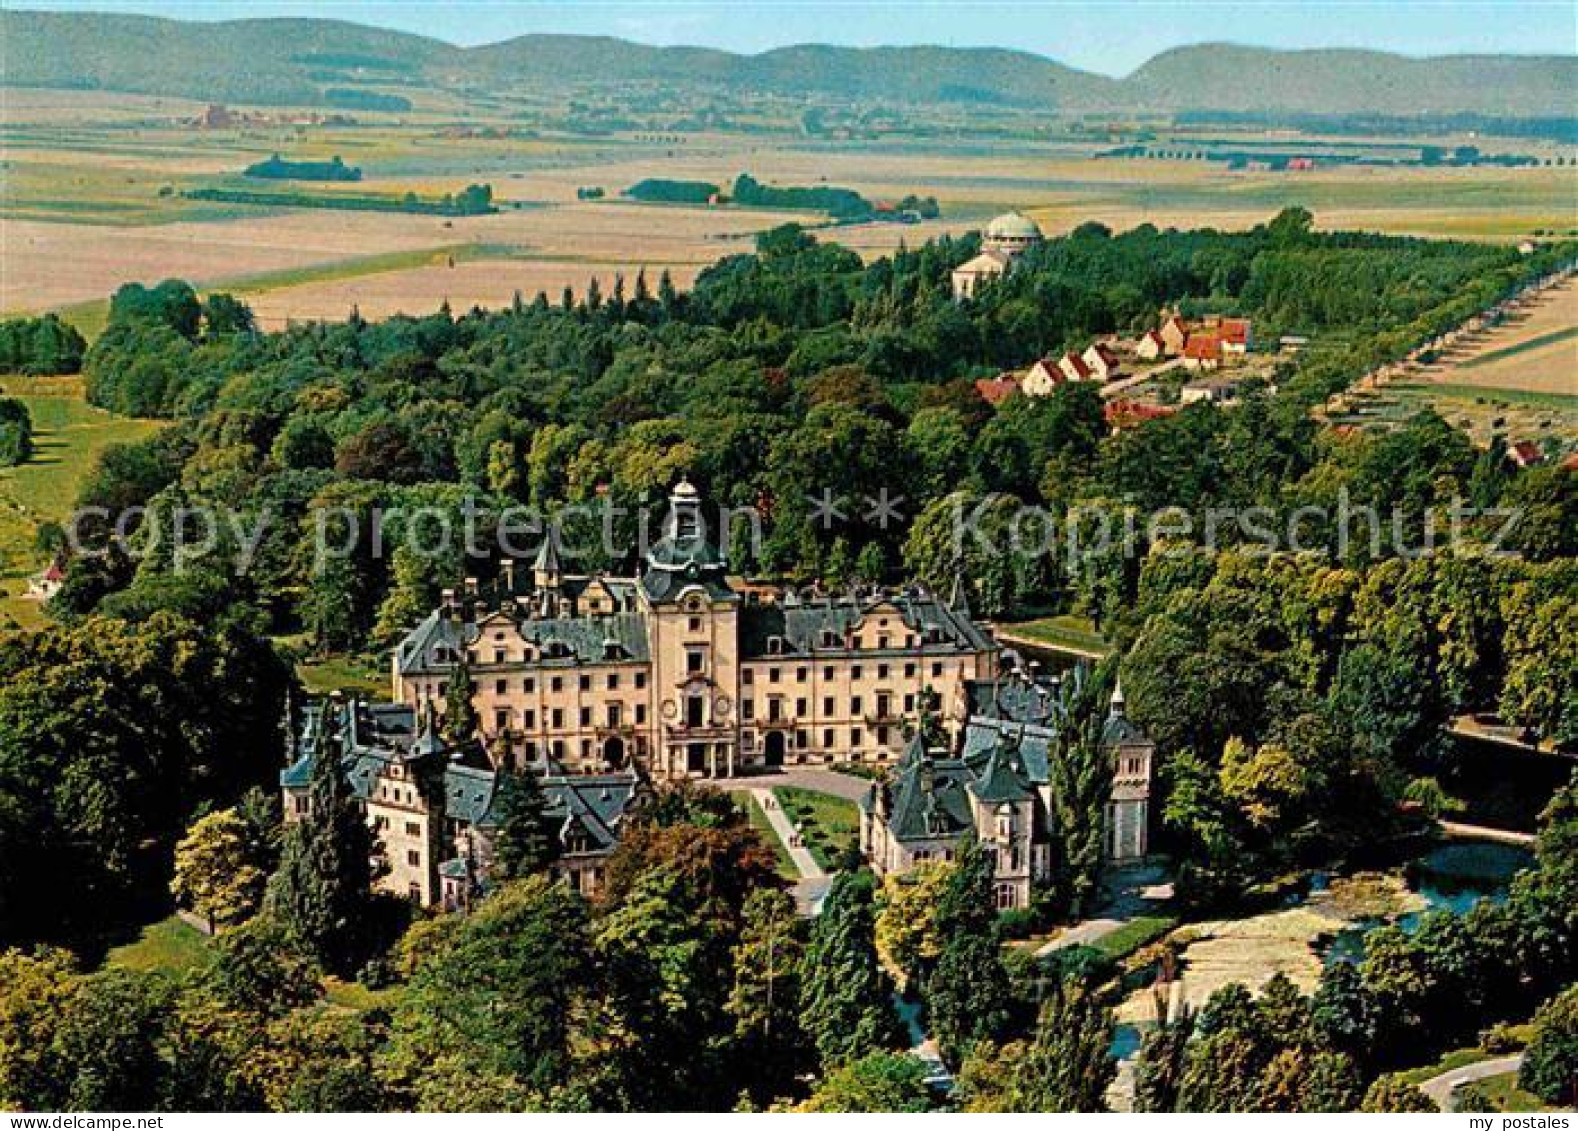
M 289 681 L 270 637 L 376 653 L 442 587 L 499 568 L 494 552 L 462 547 L 358 549 L 316 568 L 325 510 L 363 535 L 379 524 L 385 546 L 407 533 L 396 513 L 423 506 L 456 527 L 470 511 L 484 535 L 533 506 L 574 533 L 587 521 L 574 506 L 660 506 L 688 475 L 709 502 L 762 513 L 759 546 L 735 546 L 740 571 L 843 588 L 945 585 L 963 568 L 978 612 L 1092 617 L 1119 648 L 1130 711 L 1158 741 L 1180 905 L 1231 907 L 1289 869 L 1349 860 L 1450 806 L 1441 727 L 1452 715 L 1498 710 L 1578 741 L 1578 489 L 1570 472 L 1518 470 L 1431 413 L 1390 434 L 1337 434 L 1310 409 L 1575 249 L 1518 256 L 1318 233 L 1310 221 L 1291 210 L 1237 233 L 1087 224 L 967 303 L 952 300 L 948 273 L 975 238 L 863 263 L 794 226 L 685 293 L 638 274 L 611 293 L 282 333 L 178 281 L 123 287 L 84 360 L 88 396 L 170 427 L 110 448 L 85 484 L 84 506 L 147 517 L 126 544 L 107 524 L 85 530 L 106 552 L 71 560 L 52 606 L 63 626 L 0 640 L 0 932 L 92 956 L 99 940 L 82 909 L 129 921 L 169 882 L 172 852 L 207 838 L 230 838 L 254 879 L 273 879 L 238 896 L 235 920 L 251 923 L 193 984 L 84 975 L 57 951 L 0 954 L 11 984 L 33 987 L 24 997 L 60 1003 L 44 1019 L 0 1000 L 0 1106 L 925 1109 L 915 1063 L 882 1052 L 901 1041 L 876 957 L 895 937 L 911 957 L 888 967 L 926 1002 L 961 1106 L 1100 1104 L 1111 1017 L 1098 972 L 1004 959 L 978 861 L 934 883 L 925 946 L 863 874 L 839 877 L 806 934 L 756 834 L 705 793 L 677 792 L 626 834 L 595 907 L 533 879 L 543 861 L 525 852 L 481 912 L 418 921 L 391 943 L 355 820 L 294 827 L 282 844 L 256 831 L 273 825 L 246 790 L 278 765 Z M 1311 344 L 1239 405 L 1195 404 L 1117 432 L 1089 383 L 996 409 L 975 393 L 977 377 L 1152 327 L 1169 304 L 1251 317 L 1259 341 Z M 824 489 L 852 502 L 847 519 L 816 521 Z M 860 505 L 884 491 L 904 497 L 901 521 Z M 1504 532 L 1471 516 L 1450 552 L 1411 552 L 1455 500 L 1520 521 Z M 1393 538 L 1344 538 L 1333 516 L 1348 505 L 1385 513 Z M 218 532 L 222 552 L 188 558 L 172 535 L 197 506 L 229 508 L 234 522 Z M 1081 538 L 1161 508 L 1259 508 L 1267 525 L 1322 517 L 1303 522 L 1300 552 L 1266 552 L 1232 524 L 1207 543 L 1198 527 L 1141 522 L 1130 546 L 967 541 L 959 558 L 955 508 L 993 535 L 1023 506 Z M 633 525 L 620 533 L 634 544 Z M 1483 552 L 1496 539 L 1513 554 Z M 630 569 L 633 557 L 585 549 L 571 565 Z M 344 784 L 320 778 L 314 797 L 336 811 Z M 1280 987 L 1269 1003 L 1213 1002 L 1196 1036 L 1163 1030 L 1147 1046 L 1144 1103 L 1354 1106 L 1367 1088 L 1370 1106 L 1414 1103 L 1376 1081 L 1395 1066 L 1385 1025 L 1419 1017 L 1449 1040 L 1526 1017 L 1572 976 L 1578 864 L 1562 798 L 1507 909 L 1398 940 L 1330 973 L 1313 1000 Z M 682 850 L 697 842 L 704 853 Z M 328 857 L 346 863 L 331 891 L 298 864 Z M 764 946 L 805 961 L 764 975 Z M 260 964 L 264 953 L 290 961 Z M 335 1011 L 319 997 L 325 969 L 393 981 L 398 1005 Z M 770 995 L 764 976 L 776 976 Z M 495 989 L 481 992 L 484 981 Z M 1447 1025 L 1442 1003 L 1464 986 L 1474 1010 Z M 508 1033 L 494 994 L 519 1019 Z M 9 1041 L 6 1025 L 46 1040 Z M 252 1055 L 260 1047 L 267 1057 Z M 99 1071 L 96 1057 L 112 1054 Z M 811 1095 L 805 1073 L 819 1073 Z

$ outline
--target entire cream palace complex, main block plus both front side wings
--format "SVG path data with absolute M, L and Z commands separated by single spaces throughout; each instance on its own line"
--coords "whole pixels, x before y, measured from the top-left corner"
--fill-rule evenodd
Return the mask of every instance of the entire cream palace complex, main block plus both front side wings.
M 800 598 L 732 580 L 688 483 L 639 577 L 567 574 L 546 541 L 529 582 L 514 580 L 507 563 L 491 596 L 445 593 L 394 650 L 394 702 L 335 696 L 292 718 L 286 819 L 311 820 L 314 765 L 336 759 L 377 833 L 383 890 L 469 904 L 503 773 L 538 775 L 555 871 L 595 894 L 650 781 L 851 762 L 885 770 L 862 806 L 877 872 L 950 858 L 974 836 L 994 853 L 997 905 L 1030 904 L 1051 866 L 1064 688 L 1005 659 L 963 598 Z M 456 680 L 470 683 L 478 733 L 450 746 L 440 711 Z M 945 748 L 906 737 L 928 711 Z M 1120 863 L 1147 850 L 1152 763 L 1122 694 L 1103 741 L 1106 855 Z

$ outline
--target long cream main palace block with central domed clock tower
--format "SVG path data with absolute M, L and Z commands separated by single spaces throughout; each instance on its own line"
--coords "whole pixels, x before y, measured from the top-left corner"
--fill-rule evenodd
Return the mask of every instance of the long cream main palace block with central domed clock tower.
M 447 593 L 394 648 L 394 699 L 443 708 L 472 685 L 488 749 L 570 773 L 656 779 L 784 765 L 890 765 L 928 700 L 959 733 L 999 647 L 967 603 L 922 588 L 802 596 L 746 587 L 680 483 L 639 577 L 567 574 L 552 538 L 530 577 Z

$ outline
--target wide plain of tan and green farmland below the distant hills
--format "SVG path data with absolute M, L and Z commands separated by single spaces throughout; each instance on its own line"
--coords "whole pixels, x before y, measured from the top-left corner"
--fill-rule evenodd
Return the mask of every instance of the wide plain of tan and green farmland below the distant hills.
M 237 107 L 232 107 L 237 109 Z M 58 309 L 85 333 L 103 323 L 122 282 L 185 278 L 246 295 L 264 327 L 500 306 L 516 292 L 557 298 L 592 278 L 608 290 L 645 268 L 690 282 L 721 256 L 750 248 L 775 224 L 822 224 L 819 213 L 735 207 L 638 205 L 619 192 L 647 178 L 727 185 L 839 185 L 873 200 L 934 196 L 942 218 L 922 224 L 830 227 L 863 256 L 942 232 L 963 232 L 1021 208 L 1051 233 L 1097 219 L 1112 227 L 1248 227 L 1302 203 L 1322 227 L 1431 237 L 1518 240 L 1573 224 L 1572 167 L 1419 169 L 1333 166 L 1308 172 L 1229 170 L 1215 161 L 1101 158 L 1087 140 L 828 140 L 784 133 L 573 136 L 522 125 L 522 112 L 437 103 L 406 115 L 312 121 L 292 110 L 252 112 L 224 129 L 194 125 L 202 106 L 93 91 L 6 91 L 0 106 L 0 312 Z M 475 117 L 473 117 L 475 115 Z M 530 121 L 530 118 L 524 118 Z M 458 125 L 464 121 L 464 125 Z M 1447 140 L 1447 139 L 1442 139 Z M 193 200 L 191 189 L 265 188 L 241 169 L 279 153 L 339 156 L 363 172 L 314 194 L 432 197 L 488 183 L 489 216 L 421 216 Z M 578 200 L 578 189 L 604 189 Z

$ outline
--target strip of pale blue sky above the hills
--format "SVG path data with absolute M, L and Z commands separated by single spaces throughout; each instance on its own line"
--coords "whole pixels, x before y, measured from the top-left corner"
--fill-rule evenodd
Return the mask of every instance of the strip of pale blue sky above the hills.
M 478 44 L 532 32 L 759 52 L 792 43 L 1018 47 L 1122 76 L 1190 43 L 1408 55 L 1578 54 L 1575 0 L 0 0 L 178 19 L 333 17 Z

